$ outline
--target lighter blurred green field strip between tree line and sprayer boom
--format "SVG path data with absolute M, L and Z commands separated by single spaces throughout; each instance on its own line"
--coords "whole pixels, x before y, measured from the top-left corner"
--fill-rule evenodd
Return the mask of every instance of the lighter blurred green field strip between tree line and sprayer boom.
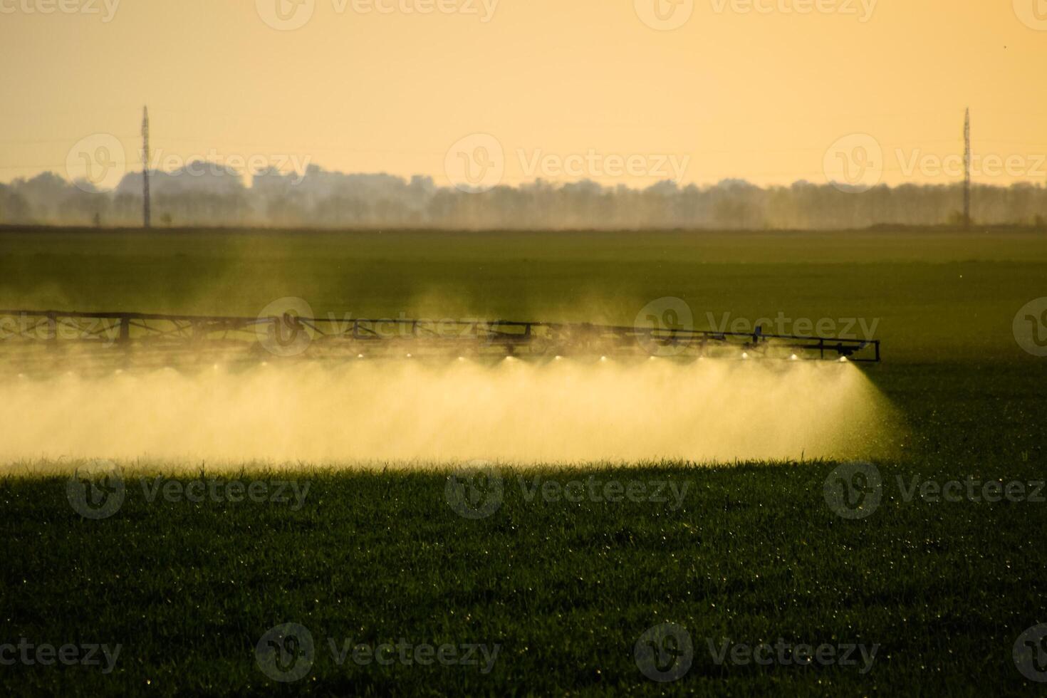
M 0 231 L 0 307 L 631 324 L 684 299 L 697 329 L 861 318 L 889 361 L 1028 361 L 1011 321 L 1047 294 L 1033 231 Z M 838 330 L 843 329 L 838 323 Z M 853 332 L 859 332 L 855 327 Z

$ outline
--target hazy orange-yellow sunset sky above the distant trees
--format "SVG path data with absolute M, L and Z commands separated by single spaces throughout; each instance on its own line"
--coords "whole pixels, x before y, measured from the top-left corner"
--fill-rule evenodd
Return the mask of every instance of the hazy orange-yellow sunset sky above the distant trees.
M 1047 0 L 108 3 L 0 0 L 0 180 L 137 166 L 148 104 L 161 167 L 629 185 L 956 181 L 970 106 L 976 181 L 1047 181 Z

